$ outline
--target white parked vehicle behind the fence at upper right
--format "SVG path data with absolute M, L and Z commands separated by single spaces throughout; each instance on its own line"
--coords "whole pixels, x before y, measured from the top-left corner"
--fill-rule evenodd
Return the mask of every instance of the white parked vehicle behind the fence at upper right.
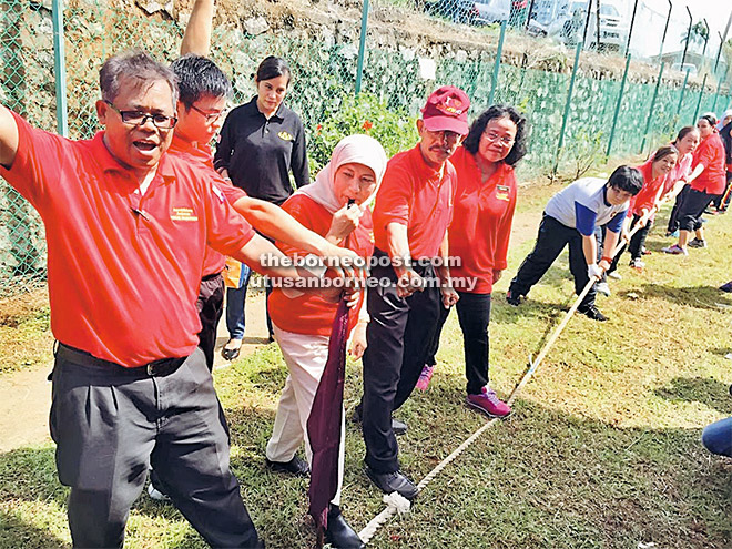
M 547 27 L 547 34 L 558 38 L 567 45 L 575 45 L 582 40 L 587 21 L 587 4 L 584 0 L 572 0 L 560 6 L 557 17 Z M 586 42 L 596 47 L 598 41 L 597 12 L 594 3 L 587 24 Z M 623 24 L 620 4 L 616 1 L 600 2 L 600 44 L 622 49 L 628 38 L 628 27 Z

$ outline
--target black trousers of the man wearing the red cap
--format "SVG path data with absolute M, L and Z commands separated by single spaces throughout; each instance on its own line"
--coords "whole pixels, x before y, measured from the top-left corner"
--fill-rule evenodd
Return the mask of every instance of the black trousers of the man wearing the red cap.
M 375 255 L 384 253 L 377 251 Z M 426 278 L 435 277 L 431 266 L 416 266 L 415 271 Z M 406 401 L 419 379 L 437 327 L 440 292 L 426 287 L 404 299 L 397 297 L 392 266 L 375 266 L 369 276 L 382 283 L 369 286 L 367 294 L 370 322 L 362 400 L 366 465 L 378 472 L 393 472 L 399 468 L 399 448 L 392 430 L 392 411 Z

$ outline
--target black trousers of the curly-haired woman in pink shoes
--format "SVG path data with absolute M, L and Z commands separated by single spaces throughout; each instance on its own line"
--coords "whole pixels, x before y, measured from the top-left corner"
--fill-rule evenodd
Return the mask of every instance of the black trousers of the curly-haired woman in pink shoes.
M 489 363 L 489 333 L 490 324 L 490 294 L 469 294 L 458 292 L 460 299 L 455 306 L 458 322 L 462 331 L 462 348 L 465 349 L 465 377 L 468 380 L 466 390 L 468 395 L 479 395 L 480 389 L 488 385 Z M 425 364 L 437 364 L 435 355 L 439 348 L 439 338 L 443 334 L 445 321 L 450 314 L 449 308 L 440 307 L 437 329 L 429 345 L 429 353 Z

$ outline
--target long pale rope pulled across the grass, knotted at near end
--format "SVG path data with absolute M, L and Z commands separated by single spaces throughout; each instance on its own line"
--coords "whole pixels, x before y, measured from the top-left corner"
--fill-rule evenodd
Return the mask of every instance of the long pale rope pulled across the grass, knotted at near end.
M 630 238 L 636 234 L 636 232 L 641 230 L 641 221 L 648 223 L 648 220 L 650 220 L 651 215 L 653 215 L 658 210 L 660 210 L 661 205 L 675 197 L 678 193 L 673 193 L 672 195 L 669 195 L 667 199 L 659 201 L 658 204 L 655 204 L 650 212 L 648 212 L 645 215 L 643 215 L 638 223 L 636 223 L 636 226 L 628 233 L 628 235 L 622 236 L 620 240 L 619 245 L 616 246 L 613 257 L 619 255 L 620 252 L 623 250 L 623 247 L 630 242 Z M 590 278 L 590 281 L 587 283 L 582 292 L 577 296 L 577 299 L 575 299 L 575 303 L 572 306 L 569 308 L 567 314 L 565 314 L 565 317 L 562 318 L 561 323 L 557 326 L 555 329 L 553 334 L 551 334 L 551 337 L 547 340 L 545 346 L 541 348 L 541 352 L 537 355 L 536 359 L 531 359 L 529 357 L 529 367 L 527 370 L 523 373 L 523 376 L 519 380 L 519 383 L 514 387 L 514 390 L 508 397 L 508 405 L 510 406 L 514 404 L 516 398 L 518 397 L 519 393 L 523 389 L 526 384 L 529 383 L 531 377 L 533 377 L 533 374 L 536 373 L 537 368 L 539 367 L 539 364 L 546 358 L 547 354 L 549 354 L 549 349 L 551 346 L 555 344 L 555 342 L 559 338 L 559 335 L 562 333 L 567 324 L 569 323 L 570 318 L 572 315 L 577 312 L 577 308 L 580 306 L 582 303 L 582 299 L 587 296 L 587 294 L 590 292 L 590 288 L 592 285 L 598 282 L 599 278 L 593 276 Z M 439 475 L 443 469 L 445 469 L 449 464 L 451 464 L 457 457 L 462 454 L 472 443 L 475 443 L 486 430 L 488 430 L 490 427 L 494 425 L 497 425 L 499 423 L 498 418 L 491 418 L 488 421 L 486 421 L 478 430 L 476 430 L 470 437 L 468 437 L 460 446 L 458 446 L 453 453 L 447 456 L 445 459 L 443 459 L 439 464 L 435 466 L 435 468 L 429 471 L 425 478 L 423 478 L 419 484 L 417 485 L 417 489 L 419 491 L 423 491 L 429 482 L 431 482 L 437 475 Z M 406 501 L 406 509 L 404 508 L 404 502 Z M 362 539 L 364 543 L 368 543 L 372 538 L 376 535 L 376 531 L 383 527 L 385 523 L 387 523 L 392 517 L 395 515 L 403 515 L 404 512 L 407 512 L 409 510 L 409 501 L 400 496 L 397 492 L 392 492 L 387 496 L 384 496 L 384 502 L 386 504 L 386 508 L 379 512 L 376 517 L 374 517 L 368 525 L 358 533 L 358 537 Z

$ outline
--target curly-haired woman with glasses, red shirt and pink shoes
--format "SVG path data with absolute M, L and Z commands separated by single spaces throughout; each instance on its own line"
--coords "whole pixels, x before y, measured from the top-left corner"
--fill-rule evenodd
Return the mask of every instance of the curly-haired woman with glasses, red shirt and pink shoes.
M 511 408 L 488 383 L 492 285 L 507 266 L 508 241 L 516 209 L 514 167 L 526 154 L 526 119 L 512 106 L 494 105 L 470 126 L 450 159 L 458 176 L 453 223 L 448 232 L 450 275 L 460 299 L 458 321 L 465 347 L 467 404 L 489 416 L 505 417 Z M 429 358 L 417 387 L 426 388 L 449 309 L 444 308 Z M 423 390 L 424 390 L 423 388 Z

